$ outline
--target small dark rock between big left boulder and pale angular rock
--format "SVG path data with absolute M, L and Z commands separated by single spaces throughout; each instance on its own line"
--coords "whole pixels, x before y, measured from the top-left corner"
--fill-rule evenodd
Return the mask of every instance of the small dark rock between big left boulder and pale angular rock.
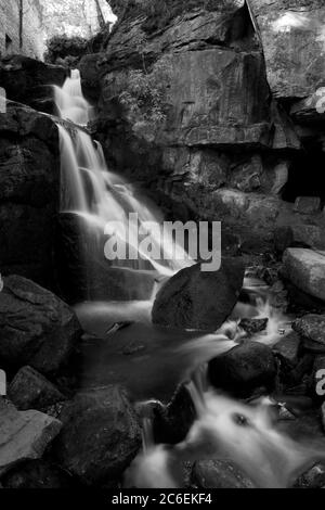
M 46 410 L 47 407 L 65 400 L 54 384 L 31 367 L 23 367 L 16 373 L 9 386 L 8 396 L 22 411 Z

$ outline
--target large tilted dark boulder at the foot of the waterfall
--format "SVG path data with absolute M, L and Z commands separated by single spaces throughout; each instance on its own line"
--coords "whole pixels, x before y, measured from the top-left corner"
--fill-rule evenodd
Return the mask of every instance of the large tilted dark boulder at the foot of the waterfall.
M 182 269 L 158 292 L 153 306 L 155 324 L 216 331 L 232 313 L 244 281 L 239 258 L 223 258 L 219 271 L 200 264 Z

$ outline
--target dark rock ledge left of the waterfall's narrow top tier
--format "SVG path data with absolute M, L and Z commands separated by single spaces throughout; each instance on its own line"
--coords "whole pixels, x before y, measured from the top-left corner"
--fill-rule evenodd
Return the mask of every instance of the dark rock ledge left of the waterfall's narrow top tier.
M 68 71 L 44 64 L 23 55 L 10 55 L 0 60 L 0 84 L 11 101 L 34 105 L 35 101 L 52 98 L 51 85 L 61 87 Z

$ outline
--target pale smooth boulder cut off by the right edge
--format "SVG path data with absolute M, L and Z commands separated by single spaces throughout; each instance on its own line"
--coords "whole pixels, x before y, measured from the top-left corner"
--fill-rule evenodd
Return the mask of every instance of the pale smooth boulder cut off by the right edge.
M 307 248 L 284 253 L 284 276 L 298 289 L 325 301 L 325 255 Z

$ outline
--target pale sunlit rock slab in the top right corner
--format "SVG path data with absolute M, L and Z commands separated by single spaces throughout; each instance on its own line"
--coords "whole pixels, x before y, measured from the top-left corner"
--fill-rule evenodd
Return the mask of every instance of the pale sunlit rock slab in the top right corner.
M 322 0 L 250 0 L 276 98 L 306 98 L 325 79 Z M 306 69 L 308 68 L 308 73 Z

